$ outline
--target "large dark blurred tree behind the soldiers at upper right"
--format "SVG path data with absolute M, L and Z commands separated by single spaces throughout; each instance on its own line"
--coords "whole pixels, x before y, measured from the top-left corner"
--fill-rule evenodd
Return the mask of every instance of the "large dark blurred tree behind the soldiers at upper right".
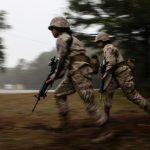
M 69 0 L 65 13 L 74 31 L 93 25 L 119 42 L 126 58 L 135 59 L 136 81 L 150 83 L 150 1 L 149 0 Z M 90 35 L 79 34 L 87 46 Z

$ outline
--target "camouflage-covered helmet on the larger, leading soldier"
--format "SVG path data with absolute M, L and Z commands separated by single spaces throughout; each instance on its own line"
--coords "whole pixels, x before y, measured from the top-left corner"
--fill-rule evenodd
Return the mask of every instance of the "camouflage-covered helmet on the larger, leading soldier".
M 70 28 L 69 22 L 64 17 L 55 17 L 51 20 L 48 27 L 49 30 L 52 28 Z

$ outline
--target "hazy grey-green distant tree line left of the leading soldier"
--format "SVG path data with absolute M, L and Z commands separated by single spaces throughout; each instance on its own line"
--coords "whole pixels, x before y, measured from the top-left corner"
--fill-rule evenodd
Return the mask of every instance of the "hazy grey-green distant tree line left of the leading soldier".
M 0 75 L 0 88 L 4 84 L 22 84 L 25 89 L 39 89 L 42 82 L 49 73 L 48 63 L 52 57 L 56 56 L 56 51 L 44 52 L 32 62 L 20 59 L 15 68 L 7 68 L 7 71 Z M 55 82 L 56 87 L 58 81 Z

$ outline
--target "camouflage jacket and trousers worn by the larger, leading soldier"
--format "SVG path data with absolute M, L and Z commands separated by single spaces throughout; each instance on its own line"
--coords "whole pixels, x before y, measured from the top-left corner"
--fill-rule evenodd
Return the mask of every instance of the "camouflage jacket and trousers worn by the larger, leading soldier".
M 62 33 L 58 36 L 56 42 L 59 58 L 65 59 L 63 68 L 61 68 L 61 72 L 65 74 L 65 77 L 55 90 L 60 119 L 68 116 L 67 95 L 77 91 L 85 104 L 87 112 L 98 122 L 101 113 L 94 99 L 91 82 L 93 70 L 88 61 L 84 59 L 78 60 L 78 56 L 86 58 L 83 44 L 72 36 L 72 43 L 68 49 L 69 40 L 71 40 L 71 35 Z M 64 56 L 67 57 L 64 58 Z

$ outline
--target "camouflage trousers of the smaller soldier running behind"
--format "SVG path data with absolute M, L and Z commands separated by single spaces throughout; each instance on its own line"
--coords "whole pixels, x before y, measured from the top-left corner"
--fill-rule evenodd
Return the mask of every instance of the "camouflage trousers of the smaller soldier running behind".
M 112 78 L 105 92 L 104 107 L 111 107 L 114 91 L 118 87 L 122 89 L 130 101 L 137 104 L 142 109 L 145 108 L 147 101 L 135 89 L 133 73 L 128 66 L 122 66 L 115 71 L 114 78 Z

